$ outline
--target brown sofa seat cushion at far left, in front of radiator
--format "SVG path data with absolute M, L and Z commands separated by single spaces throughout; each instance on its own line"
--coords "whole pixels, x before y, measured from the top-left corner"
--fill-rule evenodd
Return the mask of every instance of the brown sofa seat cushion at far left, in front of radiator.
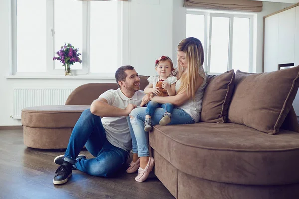
M 22 109 L 22 125 L 34 128 L 73 128 L 90 105 L 35 106 Z

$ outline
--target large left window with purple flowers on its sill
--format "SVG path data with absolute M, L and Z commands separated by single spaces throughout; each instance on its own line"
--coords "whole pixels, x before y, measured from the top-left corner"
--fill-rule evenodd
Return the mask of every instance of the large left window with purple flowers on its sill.
M 13 74 L 64 74 L 52 58 L 79 48 L 75 74 L 111 76 L 121 65 L 122 1 L 13 0 Z M 67 9 L 66 9 L 67 8 Z

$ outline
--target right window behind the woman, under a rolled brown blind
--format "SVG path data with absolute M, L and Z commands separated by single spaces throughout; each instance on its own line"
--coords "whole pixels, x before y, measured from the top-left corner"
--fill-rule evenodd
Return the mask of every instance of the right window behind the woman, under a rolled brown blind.
M 202 42 L 207 72 L 251 72 L 253 15 L 188 11 L 186 20 L 186 36 Z

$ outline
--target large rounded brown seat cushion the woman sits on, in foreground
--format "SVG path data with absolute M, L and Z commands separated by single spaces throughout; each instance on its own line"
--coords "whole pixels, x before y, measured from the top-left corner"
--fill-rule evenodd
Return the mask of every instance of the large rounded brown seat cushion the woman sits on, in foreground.
M 149 144 L 178 170 L 244 185 L 299 183 L 299 133 L 275 136 L 234 123 L 154 126 Z

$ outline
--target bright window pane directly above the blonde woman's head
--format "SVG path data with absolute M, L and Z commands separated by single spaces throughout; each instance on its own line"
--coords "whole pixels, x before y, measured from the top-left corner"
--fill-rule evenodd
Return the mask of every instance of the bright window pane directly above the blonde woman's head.
M 195 37 L 199 39 L 204 47 L 204 15 L 187 14 L 186 37 Z

